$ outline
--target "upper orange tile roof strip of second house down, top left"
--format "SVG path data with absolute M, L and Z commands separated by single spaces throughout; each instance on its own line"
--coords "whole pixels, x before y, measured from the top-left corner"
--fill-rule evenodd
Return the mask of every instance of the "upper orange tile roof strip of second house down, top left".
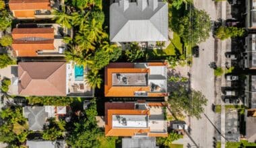
M 54 28 L 14 28 L 11 35 L 13 40 L 28 37 L 54 39 Z

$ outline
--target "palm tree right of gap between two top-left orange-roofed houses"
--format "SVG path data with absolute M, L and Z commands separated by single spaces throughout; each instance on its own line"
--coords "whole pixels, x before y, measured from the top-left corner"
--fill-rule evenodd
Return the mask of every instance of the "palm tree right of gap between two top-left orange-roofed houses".
M 60 24 L 63 28 L 71 28 L 71 15 L 67 14 L 65 11 L 65 7 L 62 8 L 63 10 L 54 9 L 53 10 L 53 20 L 56 20 L 57 24 Z

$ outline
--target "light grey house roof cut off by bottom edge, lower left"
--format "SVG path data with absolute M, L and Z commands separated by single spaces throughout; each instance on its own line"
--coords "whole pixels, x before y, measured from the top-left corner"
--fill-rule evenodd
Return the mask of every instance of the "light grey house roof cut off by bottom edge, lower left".
M 57 141 L 43 141 L 43 140 L 30 140 L 26 141 L 26 146 L 28 148 L 65 148 L 64 140 Z

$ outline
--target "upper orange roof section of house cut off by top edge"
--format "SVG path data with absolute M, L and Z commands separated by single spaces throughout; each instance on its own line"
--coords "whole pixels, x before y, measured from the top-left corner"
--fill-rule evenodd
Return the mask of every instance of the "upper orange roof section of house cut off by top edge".
M 51 9 L 49 0 L 10 0 L 9 8 L 15 10 L 40 10 Z

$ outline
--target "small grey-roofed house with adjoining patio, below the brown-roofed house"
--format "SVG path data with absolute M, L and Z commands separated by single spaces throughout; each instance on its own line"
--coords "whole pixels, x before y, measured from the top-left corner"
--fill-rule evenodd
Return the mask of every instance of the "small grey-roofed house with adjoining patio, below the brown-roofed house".
M 58 118 L 67 113 L 66 106 L 25 106 L 24 118 L 28 118 L 30 131 L 43 131 L 48 118 Z

